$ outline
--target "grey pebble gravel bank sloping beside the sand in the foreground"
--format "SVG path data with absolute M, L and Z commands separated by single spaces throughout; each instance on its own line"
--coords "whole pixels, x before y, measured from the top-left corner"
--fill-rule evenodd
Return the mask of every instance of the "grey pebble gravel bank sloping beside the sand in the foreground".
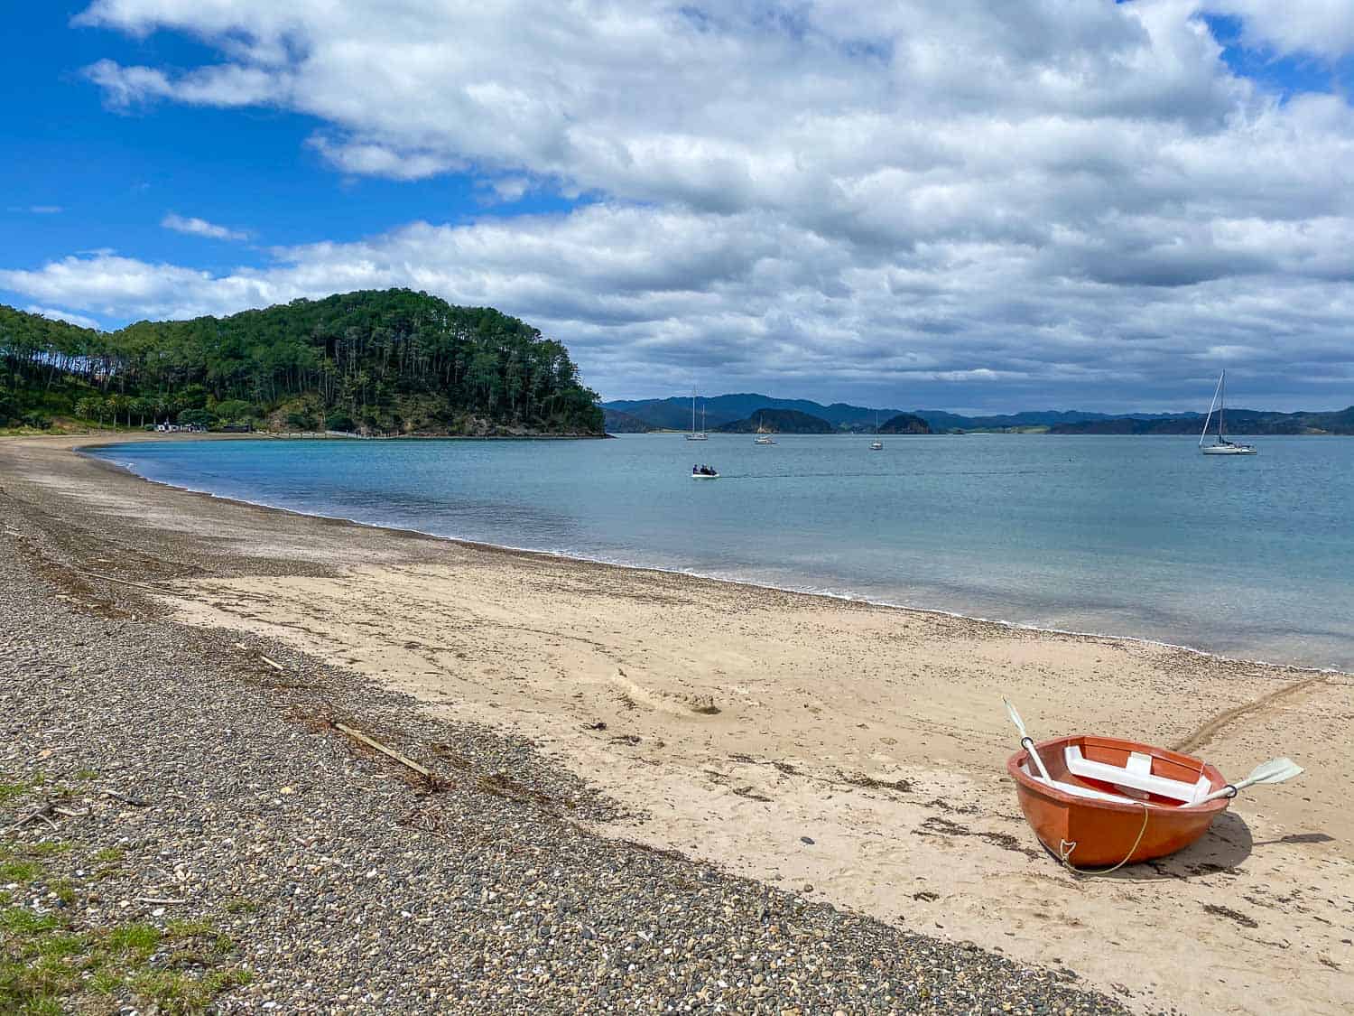
M 76 844 L 65 906 L 81 927 L 229 933 L 252 979 L 222 1012 L 1124 1012 L 1070 971 L 590 833 L 580 822 L 615 802 L 528 740 L 435 721 L 279 643 L 175 625 L 139 589 L 73 570 L 223 573 L 245 568 L 233 551 L 3 470 L 0 782 L 46 783 L 0 801 L 0 828 L 58 782 L 88 811 L 4 839 Z M 115 870 L 76 867 L 110 848 Z M 62 905 L 41 890 L 16 899 Z

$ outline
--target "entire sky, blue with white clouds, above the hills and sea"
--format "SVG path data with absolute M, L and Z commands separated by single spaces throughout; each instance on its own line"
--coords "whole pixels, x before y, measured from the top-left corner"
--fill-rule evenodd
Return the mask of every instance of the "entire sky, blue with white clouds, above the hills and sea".
M 605 398 L 1354 404 L 1349 0 L 15 4 L 0 302 L 408 286 Z

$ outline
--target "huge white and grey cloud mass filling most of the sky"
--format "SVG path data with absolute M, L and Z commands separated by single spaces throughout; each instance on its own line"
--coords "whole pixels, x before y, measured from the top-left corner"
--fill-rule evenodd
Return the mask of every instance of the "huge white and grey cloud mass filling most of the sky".
M 413 224 L 260 270 L 96 256 L 0 284 L 123 318 L 409 284 L 546 326 L 617 394 L 699 368 L 940 393 L 902 404 L 1167 401 L 1246 350 L 1286 398 L 1354 371 L 1354 114 L 1238 77 L 1201 14 L 1330 57 L 1351 9 L 97 0 L 79 20 L 219 53 L 99 61 L 111 106 L 261 104 L 315 118 L 310 145 L 344 173 L 471 172 L 508 202 L 601 203 Z

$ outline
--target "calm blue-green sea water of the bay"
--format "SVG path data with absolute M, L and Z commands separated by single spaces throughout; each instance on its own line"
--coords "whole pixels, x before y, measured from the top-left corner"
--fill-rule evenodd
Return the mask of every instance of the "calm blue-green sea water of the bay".
M 1354 440 L 173 442 L 179 486 L 441 536 L 1354 669 Z M 695 462 L 723 473 L 691 480 Z

